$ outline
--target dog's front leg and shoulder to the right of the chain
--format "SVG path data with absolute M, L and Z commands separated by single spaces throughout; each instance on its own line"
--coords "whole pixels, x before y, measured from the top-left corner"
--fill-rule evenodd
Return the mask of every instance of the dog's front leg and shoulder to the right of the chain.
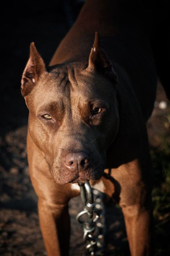
M 112 169 L 113 197 L 123 211 L 131 256 L 153 255 L 151 172 L 146 170 L 138 160 Z

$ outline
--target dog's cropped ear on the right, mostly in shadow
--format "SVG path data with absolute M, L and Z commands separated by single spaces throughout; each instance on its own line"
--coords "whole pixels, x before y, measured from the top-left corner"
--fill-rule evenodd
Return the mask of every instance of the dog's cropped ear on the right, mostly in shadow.
M 112 81 L 117 83 L 117 74 L 114 71 L 112 66 L 112 62 L 109 59 L 105 50 L 100 46 L 100 39 L 98 32 L 95 32 L 95 39 L 93 43 L 93 47 L 91 48 L 90 56 L 89 56 L 89 71 L 98 71 L 107 75 Z

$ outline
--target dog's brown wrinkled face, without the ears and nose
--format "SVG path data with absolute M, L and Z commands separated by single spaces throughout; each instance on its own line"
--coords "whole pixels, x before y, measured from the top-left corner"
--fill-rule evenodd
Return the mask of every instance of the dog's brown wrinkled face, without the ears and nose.
M 30 135 L 58 184 L 98 180 L 118 130 L 115 87 L 83 68 L 76 63 L 53 69 L 28 98 Z M 79 152 L 88 166 L 70 171 L 65 158 Z

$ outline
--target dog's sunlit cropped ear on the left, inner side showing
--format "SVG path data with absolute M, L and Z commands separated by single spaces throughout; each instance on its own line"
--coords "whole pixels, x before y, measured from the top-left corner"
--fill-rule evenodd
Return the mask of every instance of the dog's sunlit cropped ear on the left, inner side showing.
M 29 59 L 21 80 L 21 93 L 23 97 L 30 93 L 34 84 L 36 84 L 41 74 L 45 71 L 45 63 L 39 55 L 34 42 L 32 42 L 30 44 Z

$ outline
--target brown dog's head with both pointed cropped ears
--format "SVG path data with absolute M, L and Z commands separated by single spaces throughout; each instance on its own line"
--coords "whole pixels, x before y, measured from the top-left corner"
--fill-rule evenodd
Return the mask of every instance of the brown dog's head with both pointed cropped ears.
M 29 133 L 58 184 L 98 180 L 119 126 L 117 75 L 96 33 L 89 62 L 46 69 L 34 44 L 22 76 Z

